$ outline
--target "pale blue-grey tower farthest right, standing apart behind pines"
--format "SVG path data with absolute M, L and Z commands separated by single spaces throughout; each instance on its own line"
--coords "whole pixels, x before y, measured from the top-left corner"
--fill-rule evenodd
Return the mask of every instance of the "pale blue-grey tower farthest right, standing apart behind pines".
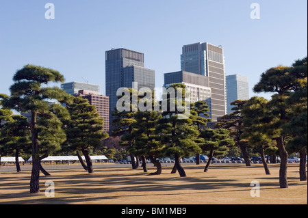
M 249 99 L 248 77 L 234 74 L 226 77 L 227 83 L 227 113 L 231 113 L 230 103 L 234 100 Z

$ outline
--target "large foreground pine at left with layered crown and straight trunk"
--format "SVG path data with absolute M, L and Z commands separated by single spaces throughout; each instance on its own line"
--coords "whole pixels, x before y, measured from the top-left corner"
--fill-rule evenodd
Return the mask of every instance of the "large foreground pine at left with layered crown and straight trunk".
M 31 111 L 32 171 L 30 193 L 38 193 L 40 191 L 40 161 L 48 156 L 47 153 L 42 154 L 42 145 L 38 137 L 38 116 L 43 117 L 50 113 L 51 108 L 47 99 L 61 101 L 68 94 L 58 87 L 42 87 L 43 84 L 48 85 L 50 82 L 64 82 L 63 75 L 50 68 L 28 64 L 21 70 L 17 70 L 13 81 L 14 84 L 10 87 L 11 96 L 4 99 L 2 104 L 16 111 Z

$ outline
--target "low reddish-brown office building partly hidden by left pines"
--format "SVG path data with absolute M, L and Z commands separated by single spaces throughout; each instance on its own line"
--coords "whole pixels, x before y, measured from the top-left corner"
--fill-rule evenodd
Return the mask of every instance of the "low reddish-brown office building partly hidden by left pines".
M 109 132 L 109 99 L 108 96 L 100 94 L 93 94 L 92 91 L 79 90 L 78 94 L 74 96 L 81 96 L 84 99 L 88 99 L 90 105 L 94 105 L 97 108 L 99 117 L 104 119 L 103 129 L 104 132 Z

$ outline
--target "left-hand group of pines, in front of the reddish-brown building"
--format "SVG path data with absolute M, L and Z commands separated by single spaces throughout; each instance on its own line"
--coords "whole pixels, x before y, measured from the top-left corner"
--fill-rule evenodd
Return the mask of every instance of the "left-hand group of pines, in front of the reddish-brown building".
M 56 70 L 27 65 L 14 74 L 13 81 L 11 95 L 0 95 L 0 123 L 7 121 L 0 126 L 0 153 L 5 155 L 14 150 L 18 165 L 19 152 L 31 152 L 30 193 L 40 191 L 40 171 L 48 175 L 40 161 L 60 150 L 77 152 L 81 164 L 92 173 L 88 151 L 100 146 L 101 140 L 108 137 L 103 133 L 103 119 L 99 118 L 96 107 L 58 87 L 49 87 L 51 82 L 64 82 L 63 75 Z M 57 100 L 66 106 L 47 100 Z M 12 115 L 11 109 L 30 111 L 31 122 L 21 115 Z

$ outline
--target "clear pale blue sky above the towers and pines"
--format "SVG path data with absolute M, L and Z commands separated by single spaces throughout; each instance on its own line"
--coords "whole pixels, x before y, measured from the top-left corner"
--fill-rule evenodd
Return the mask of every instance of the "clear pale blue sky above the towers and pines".
M 44 17 L 46 3 L 55 19 Z M 250 17 L 259 3 L 260 19 Z M 0 0 L 0 93 L 26 64 L 59 70 L 66 82 L 86 80 L 105 92 L 105 51 L 144 53 L 155 70 L 180 70 L 184 44 L 222 45 L 226 74 L 249 78 L 250 95 L 262 72 L 307 55 L 307 1 L 272 0 Z M 60 84 L 55 84 L 60 87 Z

